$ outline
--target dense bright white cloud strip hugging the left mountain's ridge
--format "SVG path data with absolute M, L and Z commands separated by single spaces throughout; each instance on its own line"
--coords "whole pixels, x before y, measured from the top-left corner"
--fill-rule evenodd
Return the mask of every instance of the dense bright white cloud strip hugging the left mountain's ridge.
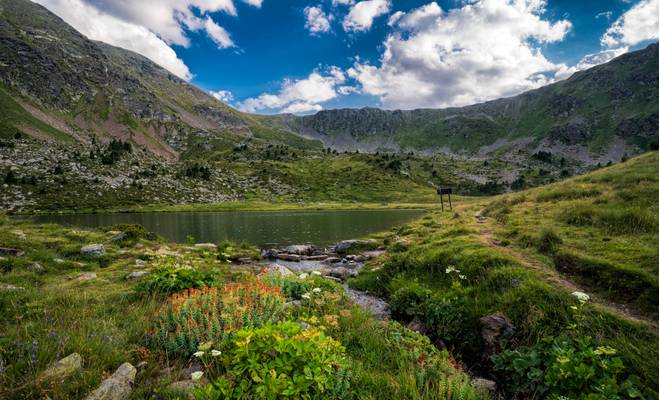
M 176 52 L 143 26 L 105 14 L 81 0 L 37 0 L 90 39 L 140 53 L 178 77 L 190 80 L 192 73 Z

